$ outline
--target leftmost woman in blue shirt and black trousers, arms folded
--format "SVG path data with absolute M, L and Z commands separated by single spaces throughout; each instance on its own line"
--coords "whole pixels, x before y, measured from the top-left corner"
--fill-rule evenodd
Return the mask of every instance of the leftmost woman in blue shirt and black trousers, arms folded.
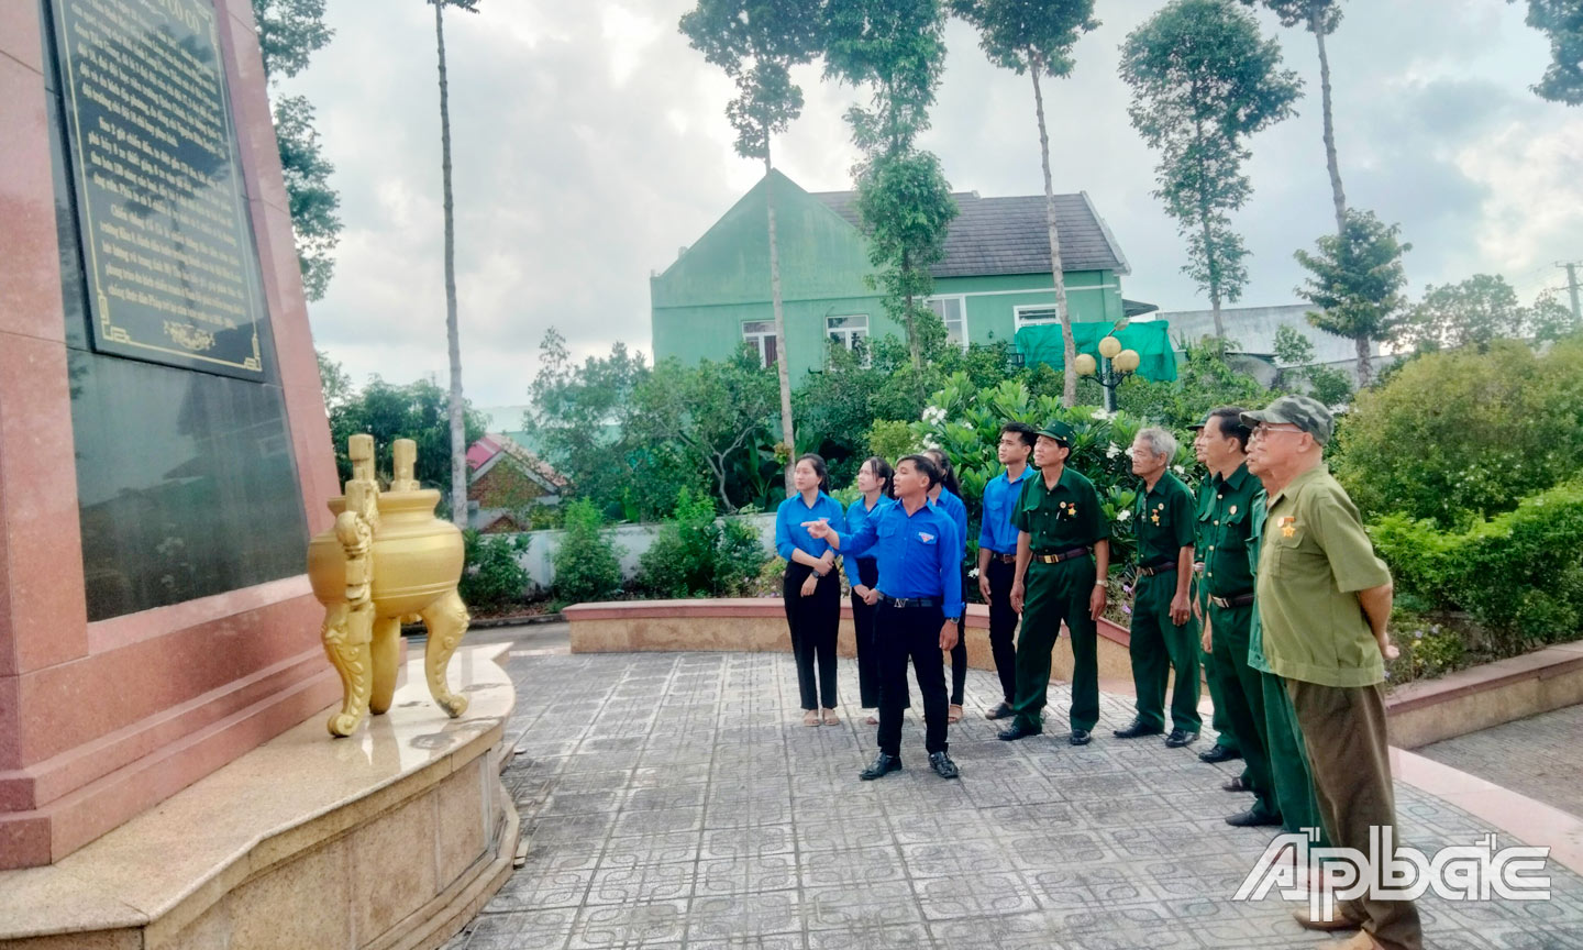
M 806 454 L 792 470 L 796 494 L 776 511 L 776 551 L 787 560 L 782 597 L 796 681 L 803 698 L 803 725 L 836 725 L 836 632 L 841 625 L 841 578 L 829 542 L 814 538 L 806 522 L 845 524 L 841 502 L 829 497 L 825 459 Z M 815 676 L 817 667 L 817 676 Z

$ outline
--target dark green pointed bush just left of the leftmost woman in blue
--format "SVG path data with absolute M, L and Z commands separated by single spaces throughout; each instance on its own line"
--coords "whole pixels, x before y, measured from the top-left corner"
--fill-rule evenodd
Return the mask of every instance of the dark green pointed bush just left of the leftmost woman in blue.
M 749 521 L 717 521 L 714 502 L 684 488 L 674 518 L 638 560 L 638 587 L 652 597 L 738 597 L 768 559 Z

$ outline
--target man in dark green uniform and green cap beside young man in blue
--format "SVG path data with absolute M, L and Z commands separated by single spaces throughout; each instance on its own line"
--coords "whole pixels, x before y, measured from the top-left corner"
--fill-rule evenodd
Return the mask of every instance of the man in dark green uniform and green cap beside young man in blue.
M 1016 580 L 1012 606 L 1023 614 L 1016 638 L 1016 701 L 1005 741 L 1038 735 L 1050 690 L 1050 652 L 1062 621 L 1072 635 L 1072 735 L 1089 743 L 1099 722 L 1099 629 L 1110 570 L 1110 526 L 1094 483 L 1067 467 L 1072 429 L 1050 423 L 1034 443 L 1035 478 L 1024 478 L 1016 524 Z

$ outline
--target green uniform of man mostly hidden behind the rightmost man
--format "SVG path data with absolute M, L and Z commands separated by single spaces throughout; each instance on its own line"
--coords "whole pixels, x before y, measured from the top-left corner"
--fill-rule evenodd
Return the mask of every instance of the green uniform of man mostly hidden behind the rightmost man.
M 1249 567 L 1258 564 L 1258 540 L 1265 529 L 1265 492 L 1254 496 L 1247 537 Z M 1308 749 L 1303 747 L 1303 730 L 1296 725 L 1296 711 L 1287 695 L 1285 681 L 1270 671 L 1265 659 L 1263 632 L 1258 624 L 1258 602 L 1254 602 L 1247 627 L 1247 665 L 1258 670 L 1260 692 L 1265 700 L 1265 739 L 1270 757 L 1270 779 L 1274 784 L 1276 806 L 1281 809 L 1282 831 L 1317 828 L 1319 847 L 1330 847 L 1325 822 L 1319 815 L 1319 798 L 1314 795 L 1314 773 L 1308 766 Z

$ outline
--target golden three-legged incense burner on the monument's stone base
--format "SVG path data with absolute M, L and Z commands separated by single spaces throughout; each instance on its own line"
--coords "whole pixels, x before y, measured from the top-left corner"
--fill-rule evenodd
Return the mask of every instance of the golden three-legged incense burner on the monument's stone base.
M 454 719 L 467 711 L 467 697 L 453 694 L 445 681 L 470 619 L 456 592 L 462 532 L 434 516 L 440 492 L 418 488 L 418 443 L 412 439 L 393 445 L 396 478 L 385 492 L 374 478 L 374 437 L 353 435 L 347 446 L 347 494 L 329 500 L 336 526 L 307 545 L 307 576 L 325 605 L 325 652 L 344 690 L 329 732 L 350 736 L 364 714 L 389 709 L 405 618 L 423 618 L 429 694 Z

